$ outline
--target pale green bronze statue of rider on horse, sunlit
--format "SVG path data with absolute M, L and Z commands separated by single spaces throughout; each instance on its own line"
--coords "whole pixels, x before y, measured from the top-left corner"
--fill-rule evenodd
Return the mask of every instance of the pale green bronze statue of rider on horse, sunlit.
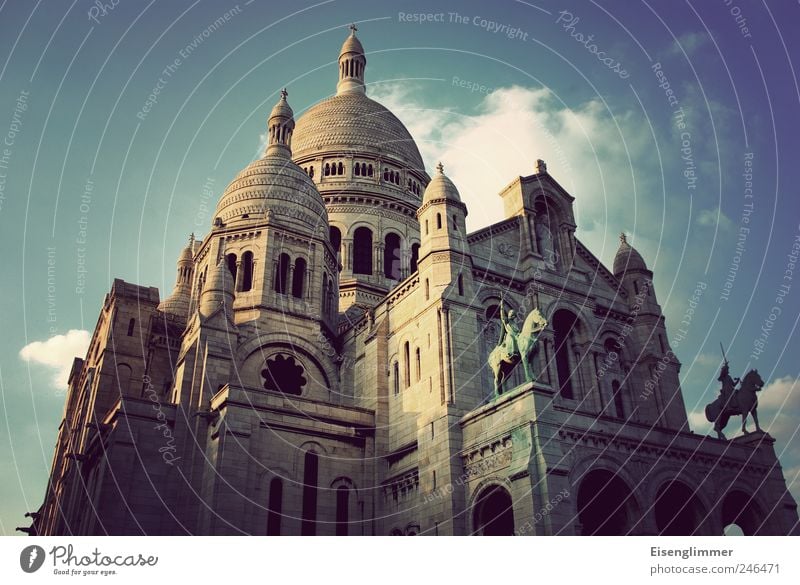
M 503 382 L 511 371 L 522 362 L 525 369 L 525 380 L 533 382 L 534 373 L 531 359 L 535 355 L 536 340 L 539 333 L 547 327 L 547 319 L 539 309 L 534 309 L 525 318 L 522 330 L 517 332 L 514 323 L 514 311 L 505 314 L 503 305 L 500 305 L 500 320 L 503 324 L 503 334 L 500 342 L 489 354 L 489 367 L 494 373 L 494 391 L 496 395 L 503 393 Z

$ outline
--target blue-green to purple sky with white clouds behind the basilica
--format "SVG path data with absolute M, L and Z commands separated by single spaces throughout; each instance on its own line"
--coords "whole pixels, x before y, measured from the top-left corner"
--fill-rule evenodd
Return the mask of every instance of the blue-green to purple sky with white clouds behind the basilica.
M 296 117 L 335 92 L 352 22 L 369 95 L 442 161 L 470 230 L 543 159 L 606 266 L 628 234 L 695 432 L 720 343 L 759 370 L 800 497 L 798 21 L 789 1 L 0 2 L 0 532 L 41 504 L 113 279 L 169 293 L 281 88 Z

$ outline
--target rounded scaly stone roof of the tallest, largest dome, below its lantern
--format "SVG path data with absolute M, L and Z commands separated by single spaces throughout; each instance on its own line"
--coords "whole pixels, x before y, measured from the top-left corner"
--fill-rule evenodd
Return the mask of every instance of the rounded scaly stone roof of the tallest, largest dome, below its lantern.
M 323 100 L 297 121 L 292 136 L 295 160 L 336 150 L 391 157 L 404 166 L 424 169 L 419 149 L 403 123 L 359 91 Z

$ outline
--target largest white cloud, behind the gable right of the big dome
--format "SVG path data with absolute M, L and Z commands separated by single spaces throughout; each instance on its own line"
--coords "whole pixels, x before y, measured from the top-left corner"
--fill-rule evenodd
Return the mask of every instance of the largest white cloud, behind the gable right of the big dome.
M 570 108 L 547 89 L 519 86 L 495 90 L 463 115 L 425 106 L 417 89 L 381 84 L 370 95 L 403 121 L 430 169 L 442 161 L 469 208 L 470 230 L 504 219 L 498 193 L 533 174 L 541 158 L 576 198 L 579 237 L 591 249 L 610 260 L 624 230 L 655 258 L 664 222 L 663 201 L 653 196 L 661 172 L 641 115 L 612 115 L 600 99 Z

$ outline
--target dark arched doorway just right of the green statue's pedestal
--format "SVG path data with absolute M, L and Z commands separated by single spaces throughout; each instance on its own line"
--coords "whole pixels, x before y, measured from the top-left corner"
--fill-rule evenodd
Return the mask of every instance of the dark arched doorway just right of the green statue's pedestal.
M 636 503 L 628 484 L 615 473 L 597 469 L 587 473 L 578 488 L 581 534 L 622 536 L 636 519 Z

